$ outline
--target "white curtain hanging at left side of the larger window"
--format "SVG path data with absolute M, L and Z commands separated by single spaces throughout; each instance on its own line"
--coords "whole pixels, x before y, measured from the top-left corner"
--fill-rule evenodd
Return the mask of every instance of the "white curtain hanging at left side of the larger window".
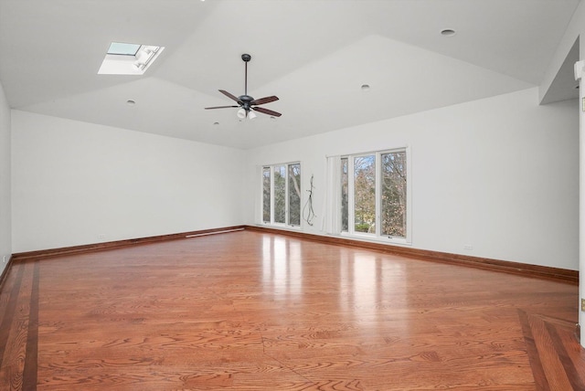
M 341 232 L 341 156 L 327 157 L 324 216 L 321 230 L 327 234 Z

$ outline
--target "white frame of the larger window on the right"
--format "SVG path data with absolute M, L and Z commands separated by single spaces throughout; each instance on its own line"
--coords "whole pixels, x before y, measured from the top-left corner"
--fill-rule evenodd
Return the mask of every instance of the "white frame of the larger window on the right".
M 381 156 L 387 153 L 406 153 L 406 232 L 404 237 L 392 237 L 388 235 L 382 235 L 382 159 Z M 339 206 L 339 214 L 340 214 L 340 232 L 342 236 L 346 236 L 349 238 L 359 238 L 364 240 L 376 240 L 376 241 L 383 241 L 392 244 L 401 244 L 401 245 L 410 245 L 412 244 L 412 163 L 411 163 L 411 151 L 410 147 L 397 147 L 397 148 L 390 148 L 380 151 L 372 151 L 366 153 L 346 153 L 340 156 L 340 162 L 343 162 L 343 159 L 347 159 L 347 230 L 342 230 L 341 221 L 343 220 L 343 212 L 342 207 L 344 207 L 343 202 L 340 203 Z M 375 232 L 367 233 L 367 232 L 359 232 L 356 231 L 356 195 L 355 195 L 355 158 L 362 157 L 362 156 L 371 156 L 374 155 L 375 159 L 375 203 L 376 203 L 376 211 L 375 211 Z M 340 163 L 342 166 L 342 163 Z M 343 169 L 342 169 L 343 170 Z M 339 192 L 343 194 L 343 173 L 341 175 L 342 180 L 339 183 Z

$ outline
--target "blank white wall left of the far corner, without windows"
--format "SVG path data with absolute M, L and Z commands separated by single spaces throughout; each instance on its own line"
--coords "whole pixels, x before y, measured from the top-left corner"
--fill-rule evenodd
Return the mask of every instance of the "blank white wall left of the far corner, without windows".
M 244 153 L 12 111 L 13 251 L 243 223 Z

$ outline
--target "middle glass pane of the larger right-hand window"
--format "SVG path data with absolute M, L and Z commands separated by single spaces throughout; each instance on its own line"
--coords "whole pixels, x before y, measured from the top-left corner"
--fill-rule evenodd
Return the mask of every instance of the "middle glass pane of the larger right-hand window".
M 354 158 L 354 229 L 376 232 L 376 157 Z

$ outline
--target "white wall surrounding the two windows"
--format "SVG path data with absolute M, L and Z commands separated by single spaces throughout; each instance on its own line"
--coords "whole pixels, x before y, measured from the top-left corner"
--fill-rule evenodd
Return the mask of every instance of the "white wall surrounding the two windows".
M 261 164 L 301 161 L 303 204 L 314 174 L 318 222 L 303 230 L 323 234 L 325 155 L 409 145 L 413 248 L 579 269 L 577 110 L 538 106 L 534 88 L 257 148 L 247 220 L 260 223 Z

